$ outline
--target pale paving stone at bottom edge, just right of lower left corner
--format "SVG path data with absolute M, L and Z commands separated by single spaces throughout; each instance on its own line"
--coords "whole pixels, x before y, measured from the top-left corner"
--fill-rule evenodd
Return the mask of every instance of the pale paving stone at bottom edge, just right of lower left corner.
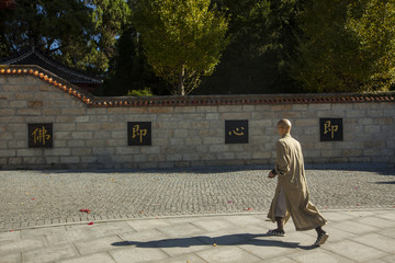
M 23 253 L 24 263 L 46 263 L 55 262 L 78 254 L 70 244 L 47 247 Z

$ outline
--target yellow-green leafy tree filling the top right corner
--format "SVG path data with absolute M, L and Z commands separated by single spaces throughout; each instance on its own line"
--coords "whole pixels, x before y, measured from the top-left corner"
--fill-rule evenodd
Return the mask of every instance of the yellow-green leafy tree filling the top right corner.
M 387 90 L 395 81 L 393 0 L 307 0 L 291 75 L 308 92 Z

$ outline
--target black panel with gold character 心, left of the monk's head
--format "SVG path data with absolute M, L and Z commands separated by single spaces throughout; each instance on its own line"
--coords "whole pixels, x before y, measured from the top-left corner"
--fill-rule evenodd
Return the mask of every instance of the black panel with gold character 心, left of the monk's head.
M 248 121 L 225 121 L 225 144 L 248 144 Z

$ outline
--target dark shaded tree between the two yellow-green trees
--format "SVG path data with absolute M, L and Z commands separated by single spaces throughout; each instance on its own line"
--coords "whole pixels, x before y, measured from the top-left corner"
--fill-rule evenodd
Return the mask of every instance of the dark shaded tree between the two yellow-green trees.
M 201 93 L 292 92 L 286 68 L 294 52 L 296 0 L 216 0 L 229 13 L 230 44 Z

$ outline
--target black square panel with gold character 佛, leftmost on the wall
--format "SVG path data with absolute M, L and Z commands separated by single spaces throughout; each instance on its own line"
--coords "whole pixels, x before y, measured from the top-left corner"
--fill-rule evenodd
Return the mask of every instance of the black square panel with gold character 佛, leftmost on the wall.
M 27 124 L 29 148 L 53 148 L 53 124 Z

